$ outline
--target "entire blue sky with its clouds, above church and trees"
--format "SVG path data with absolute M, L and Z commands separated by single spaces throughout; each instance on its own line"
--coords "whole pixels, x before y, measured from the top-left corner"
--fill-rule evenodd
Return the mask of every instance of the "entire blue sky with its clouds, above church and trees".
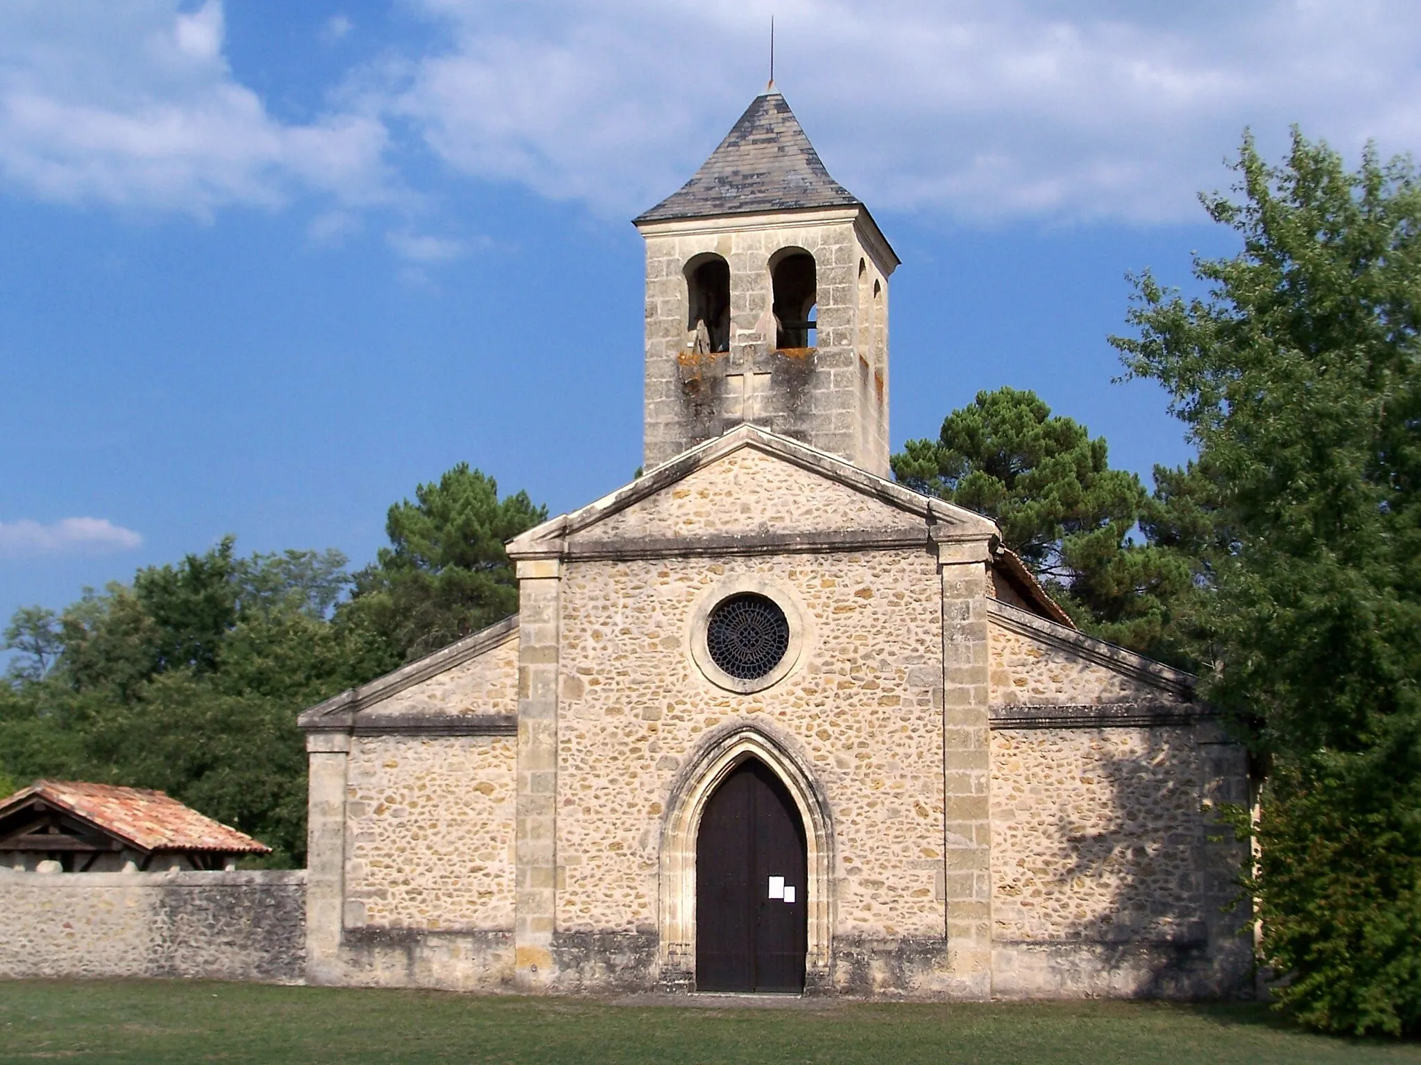
M 338 547 L 456 462 L 554 510 L 641 447 L 641 247 L 776 74 L 904 266 L 892 437 L 1036 389 L 1148 474 L 1124 274 L 1232 250 L 1250 125 L 1421 132 L 1401 0 L 7 0 L 0 613 L 200 551 Z

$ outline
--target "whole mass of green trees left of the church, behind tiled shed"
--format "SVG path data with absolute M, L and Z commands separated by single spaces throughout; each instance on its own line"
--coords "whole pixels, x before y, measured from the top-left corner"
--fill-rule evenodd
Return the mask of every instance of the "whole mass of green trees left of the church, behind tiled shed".
M 391 547 L 239 557 L 227 537 L 54 615 L 16 612 L 0 682 L 0 785 L 38 777 L 161 788 L 306 856 L 296 716 L 517 609 L 503 541 L 543 520 L 468 466 L 389 510 Z M 348 598 L 351 589 L 354 599 Z M 6 792 L 7 794 L 7 792 Z

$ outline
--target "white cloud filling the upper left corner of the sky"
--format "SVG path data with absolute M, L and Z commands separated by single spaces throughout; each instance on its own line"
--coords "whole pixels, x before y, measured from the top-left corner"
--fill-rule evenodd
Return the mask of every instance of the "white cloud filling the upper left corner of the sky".
M 0 182 L 43 199 L 207 216 L 300 190 L 382 200 L 385 125 L 273 118 L 223 55 L 206 0 L 0 6 Z

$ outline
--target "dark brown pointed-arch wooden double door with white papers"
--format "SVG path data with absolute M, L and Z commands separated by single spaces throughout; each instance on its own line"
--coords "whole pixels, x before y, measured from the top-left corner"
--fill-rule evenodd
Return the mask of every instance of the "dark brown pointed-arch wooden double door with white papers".
M 763 763 L 740 763 L 696 836 L 696 990 L 804 990 L 804 822 Z

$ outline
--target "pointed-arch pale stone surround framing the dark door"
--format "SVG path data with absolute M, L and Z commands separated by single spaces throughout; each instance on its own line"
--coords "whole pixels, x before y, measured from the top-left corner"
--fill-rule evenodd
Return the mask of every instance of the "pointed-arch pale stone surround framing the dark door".
M 706 801 L 746 758 L 780 778 L 804 824 L 809 949 L 806 988 L 830 980 L 834 829 L 828 801 L 807 760 L 759 723 L 736 721 L 715 731 L 678 774 L 666 801 L 661 838 L 658 940 L 665 985 L 693 984 L 696 967 L 696 836 Z

